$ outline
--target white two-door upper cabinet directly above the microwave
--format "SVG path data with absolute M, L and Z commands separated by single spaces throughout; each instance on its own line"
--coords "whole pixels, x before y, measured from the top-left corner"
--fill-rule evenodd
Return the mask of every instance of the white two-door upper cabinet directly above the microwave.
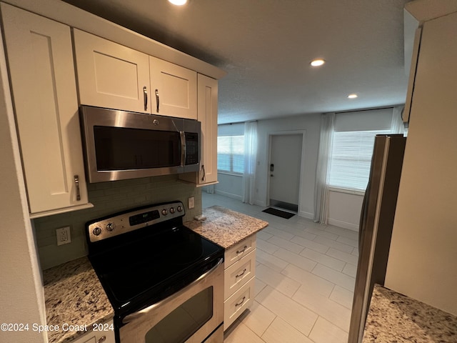
M 81 104 L 197 118 L 196 71 L 74 29 Z

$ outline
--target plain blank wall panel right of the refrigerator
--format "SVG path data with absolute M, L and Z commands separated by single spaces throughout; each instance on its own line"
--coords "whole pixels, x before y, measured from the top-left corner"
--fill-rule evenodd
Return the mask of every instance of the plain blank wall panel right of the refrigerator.
M 457 315 L 457 13 L 423 25 L 386 287 Z

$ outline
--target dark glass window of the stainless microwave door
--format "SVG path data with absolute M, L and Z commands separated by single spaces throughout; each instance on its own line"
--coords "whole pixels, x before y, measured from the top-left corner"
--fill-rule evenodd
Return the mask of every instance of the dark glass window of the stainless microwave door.
M 94 126 L 97 170 L 161 168 L 181 165 L 176 131 Z

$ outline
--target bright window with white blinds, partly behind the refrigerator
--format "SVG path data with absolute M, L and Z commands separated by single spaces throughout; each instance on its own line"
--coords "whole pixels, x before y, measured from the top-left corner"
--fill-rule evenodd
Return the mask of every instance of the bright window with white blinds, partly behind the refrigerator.
M 376 134 L 383 131 L 333 132 L 328 185 L 364 191 L 368 184 Z

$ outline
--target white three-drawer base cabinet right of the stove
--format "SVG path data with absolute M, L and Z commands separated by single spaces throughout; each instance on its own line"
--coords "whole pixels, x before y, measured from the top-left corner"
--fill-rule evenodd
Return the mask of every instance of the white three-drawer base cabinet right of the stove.
M 224 331 L 251 306 L 256 277 L 256 236 L 225 252 Z

